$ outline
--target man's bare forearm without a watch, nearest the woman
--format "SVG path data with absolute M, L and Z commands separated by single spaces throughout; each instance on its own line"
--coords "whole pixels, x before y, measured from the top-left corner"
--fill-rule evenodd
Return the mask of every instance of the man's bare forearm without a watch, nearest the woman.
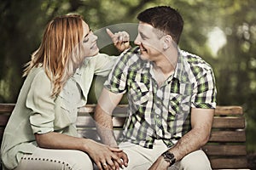
M 106 111 L 103 111 L 102 107 L 97 105 L 94 119 L 96 120 L 97 132 L 102 139 L 102 143 L 117 147 L 118 144 L 113 134 L 112 115 Z

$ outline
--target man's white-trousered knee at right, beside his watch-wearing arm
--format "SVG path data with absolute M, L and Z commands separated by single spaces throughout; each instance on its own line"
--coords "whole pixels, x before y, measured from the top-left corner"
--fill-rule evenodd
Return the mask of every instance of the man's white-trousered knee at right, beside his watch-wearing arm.
M 196 150 L 180 161 L 179 169 L 184 170 L 208 170 L 212 169 L 210 161 L 202 150 Z

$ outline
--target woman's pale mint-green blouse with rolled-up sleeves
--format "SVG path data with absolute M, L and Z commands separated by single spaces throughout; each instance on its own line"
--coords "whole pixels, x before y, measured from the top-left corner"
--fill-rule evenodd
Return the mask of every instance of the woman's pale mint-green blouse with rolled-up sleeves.
M 78 136 L 78 108 L 87 102 L 94 75 L 108 76 L 117 57 L 97 54 L 84 59 L 61 93 L 51 96 L 52 84 L 42 67 L 34 68 L 20 89 L 15 109 L 3 134 L 1 156 L 4 167 L 13 169 L 21 157 L 37 147 L 34 133 L 66 133 Z

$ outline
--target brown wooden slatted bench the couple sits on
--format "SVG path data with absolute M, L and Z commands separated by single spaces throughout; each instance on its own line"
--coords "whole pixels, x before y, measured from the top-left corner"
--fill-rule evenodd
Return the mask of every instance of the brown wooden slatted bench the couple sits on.
M 0 141 L 15 104 L 0 104 Z M 113 111 L 113 127 L 119 136 L 125 122 L 127 105 L 118 105 Z M 77 127 L 82 137 L 99 140 L 91 115 L 95 105 L 79 109 Z M 203 147 L 213 169 L 245 169 L 247 167 L 245 118 L 240 106 L 218 106 L 215 111 L 211 138 Z

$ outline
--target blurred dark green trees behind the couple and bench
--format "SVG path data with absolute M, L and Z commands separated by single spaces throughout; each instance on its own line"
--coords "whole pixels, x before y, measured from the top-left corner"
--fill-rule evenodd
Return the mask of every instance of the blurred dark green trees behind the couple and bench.
M 118 23 L 137 23 L 137 14 L 155 5 L 170 5 L 183 15 L 180 48 L 212 65 L 218 105 L 243 107 L 247 151 L 256 152 L 255 0 L 1 0 L 0 102 L 16 101 L 24 81 L 23 65 L 55 16 L 82 14 L 91 29 L 98 30 Z M 102 48 L 102 52 L 116 54 L 111 47 Z

